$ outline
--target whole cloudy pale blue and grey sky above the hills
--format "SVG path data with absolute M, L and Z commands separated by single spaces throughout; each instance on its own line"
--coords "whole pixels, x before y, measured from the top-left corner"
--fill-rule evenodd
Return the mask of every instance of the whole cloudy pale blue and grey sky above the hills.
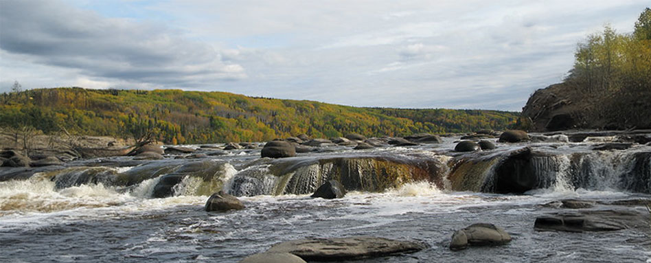
M 521 111 L 648 0 L 0 0 L 0 92 L 183 89 Z

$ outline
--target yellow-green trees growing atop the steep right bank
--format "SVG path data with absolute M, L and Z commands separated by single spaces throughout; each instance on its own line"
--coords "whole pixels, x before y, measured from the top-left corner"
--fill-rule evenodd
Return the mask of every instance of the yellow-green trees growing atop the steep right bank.
M 606 25 L 579 43 L 565 84 L 590 102 L 586 119 L 608 119 L 618 128 L 651 126 L 651 9 L 632 33 Z

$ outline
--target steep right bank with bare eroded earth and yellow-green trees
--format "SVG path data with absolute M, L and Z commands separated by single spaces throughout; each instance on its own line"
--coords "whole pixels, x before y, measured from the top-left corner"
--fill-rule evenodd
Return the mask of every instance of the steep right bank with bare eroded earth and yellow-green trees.
M 651 128 L 651 9 L 631 34 L 606 26 L 579 43 L 574 67 L 559 84 L 536 91 L 522 128 Z

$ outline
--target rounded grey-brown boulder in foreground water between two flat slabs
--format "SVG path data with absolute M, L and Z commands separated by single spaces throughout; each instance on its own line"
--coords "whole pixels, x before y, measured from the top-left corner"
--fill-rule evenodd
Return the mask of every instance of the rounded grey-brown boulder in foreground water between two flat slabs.
M 468 246 L 494 246 L 508 242 L 511 242 L 511 236 L 503 228 L 479 223 L 455 232 L 450 242 L 450 249 L 461 250 Z

